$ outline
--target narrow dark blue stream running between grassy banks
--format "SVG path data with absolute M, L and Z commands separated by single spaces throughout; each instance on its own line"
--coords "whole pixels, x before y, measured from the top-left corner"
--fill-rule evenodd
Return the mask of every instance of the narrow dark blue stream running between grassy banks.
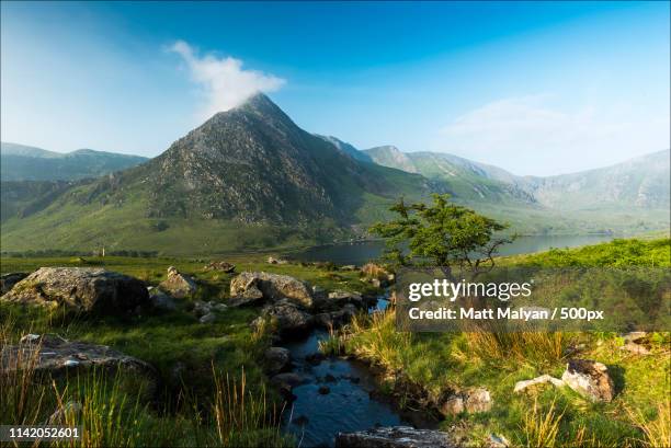
M 384 310 L 384 298 L 369 312 Z M 314 365 L 306 356 L 319 352 L 319 341 L 329 334 L 315 330 L 304 338 L 283 344 L 292 353 L 293 371 L 306 383 L 294 388 L 296 397 L 284 413 L 285 430 L 295 435 L 299 447 L 332 447 L 338 433 L 368 429 L 374 426 L 421 425 L 423 416 L 400 412 L 390 401 L 375 393 L 378 388 L 368 367 L 356 360 L 327 357 Z M 328 393 L 319 389 L 327 387 Z

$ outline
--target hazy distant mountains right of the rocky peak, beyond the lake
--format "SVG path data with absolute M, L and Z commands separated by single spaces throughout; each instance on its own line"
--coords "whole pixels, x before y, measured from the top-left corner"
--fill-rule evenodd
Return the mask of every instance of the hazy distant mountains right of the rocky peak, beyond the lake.
M 437 152 L 364 150 L 375 163 L 442 182 L 454 200 L 524 233 L 641 232 L 669 228 L 669 150 L 548 177 Z

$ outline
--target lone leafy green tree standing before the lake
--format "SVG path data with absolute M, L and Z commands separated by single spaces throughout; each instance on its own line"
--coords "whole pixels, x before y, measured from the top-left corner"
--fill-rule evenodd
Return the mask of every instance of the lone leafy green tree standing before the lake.
M 493 238 L 508 226 L 450 202 L 450 195 L 434 194 L 430 206 L 407 205 L 401 197 L 390 210 L 397 219 L 369 230 L 386 240 L 385 257 L 399 266 L 435 266 L 448 277 L 458 267 L 477 275 L 490 271 L 499 248 L 514 240 Z

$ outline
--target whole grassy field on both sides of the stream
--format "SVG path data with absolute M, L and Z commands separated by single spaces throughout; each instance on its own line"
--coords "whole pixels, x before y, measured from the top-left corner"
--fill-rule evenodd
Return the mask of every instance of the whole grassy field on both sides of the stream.
M 275 265 L 261 255 L 236 255 L 227 261 L 237 265 L 237 272 L 287 274 L 327 290 L 366 288 L 357 272 L 328 264 Z M 3 257 L 2 273 L 41 266 L 101 266 L 149 285 L 158 285 L 168 266 L 175 266 L 194 276 L 198 291 L 178 302 L 174 311 L 133 319 L 91 320 L 3 305 L 3 344 L 26 333 L 57 333 L 110 345 L 153 365 L 160 390 L 149 397 L 147 386 L 137 379 L 95 372 L 27 388 L 35 378 L 26 372 L 10 378 L 10 383 L 4 377 L 3 390 L 10 393 L 2 420 L 44 422 L 64 403 L 78 401 L 84 404 L 83 425 L 91 434 L 82 446 L 174 446 L 175 440 L 181 446 L 295 445 L 280 428 L 282 401 L 263 370 L 262 354 L 271 340 L 249 325 L 259 310 L 228 308 L 207 325 L 191 312 L 194 300 L 226 303 L 229 299 L 235 274 L 205 271 L 206 263 L 178 257 Z M 668 267 L 670 240 L 616 240 L 505 257 L 499 264 Z M 623 340 L 616 334 L 411 334 L 398 332 L 394 318 L 394 308 L 372 317 L 362 314 L 323 344 L 323 349 L 371 364 L 380 374 L 382 392 L 400 406 L 434 416 L 440 415 L 430 403 L 446 390 L 486 387 L 493 398 L 491 411 L 441 417 L 440 427 L 467 446 L 481 446 L 492 434 L 513 446 L 530 447 L 646 447 L 669 441 L 669 333 L 653 334 L 651 355 L 639 356 L 623 351 Z M 616 388 L 612 402 L 592 403 L 568 388 L 551 386 L 512 393 L 519 380 L 544 374 L 560 377 L 567 357 L 576 353 L 609 367 Z

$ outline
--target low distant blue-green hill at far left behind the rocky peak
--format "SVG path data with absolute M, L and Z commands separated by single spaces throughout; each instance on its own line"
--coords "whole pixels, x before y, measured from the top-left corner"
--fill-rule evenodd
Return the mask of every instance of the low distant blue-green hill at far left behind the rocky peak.
M 2 181 L 71 181 L 98 177 L 147 161 L 144 157 L 79 149 L 69 153 L 0 143 Z

